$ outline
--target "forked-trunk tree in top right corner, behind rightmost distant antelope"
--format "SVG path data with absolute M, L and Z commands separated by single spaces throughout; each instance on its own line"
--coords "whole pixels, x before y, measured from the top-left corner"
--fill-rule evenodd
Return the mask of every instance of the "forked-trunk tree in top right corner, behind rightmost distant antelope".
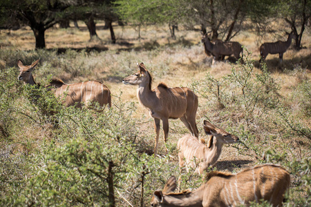
M 292 32 L 296 34 L 295 48 L 300 50 L 301 39 L 308 19 L 311 17 L 311 1 L 310 0 L 289 0 L 279 1 L 279 17 L 285 19 L 289 24 Z M 298 33 L 298 28 L 300 32 Z

